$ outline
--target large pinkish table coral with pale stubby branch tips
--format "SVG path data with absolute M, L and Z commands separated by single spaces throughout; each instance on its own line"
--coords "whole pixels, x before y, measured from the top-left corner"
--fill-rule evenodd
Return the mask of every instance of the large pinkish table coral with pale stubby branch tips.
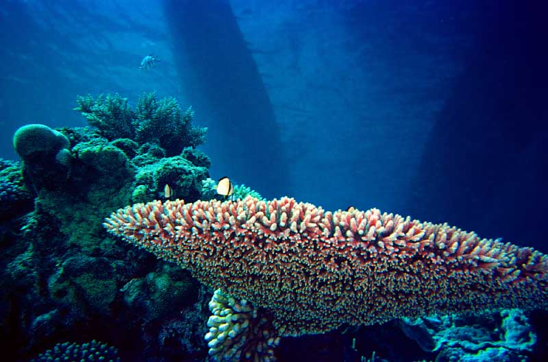
M 120 209 L 104 226 L 266 309 L 280 335 L 548 306 L 544 254 L 377 209 L 332 213 L 288 197 L 155 201 Z

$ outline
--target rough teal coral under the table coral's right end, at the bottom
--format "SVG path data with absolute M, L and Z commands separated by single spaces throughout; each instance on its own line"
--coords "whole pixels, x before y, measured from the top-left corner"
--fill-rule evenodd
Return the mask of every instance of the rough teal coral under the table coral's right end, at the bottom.
M 400 325 L 423 350 L 438 352 L 436 362 L 526 361 L 536 343 L 536 334 L 520 309 L 403 318 Z

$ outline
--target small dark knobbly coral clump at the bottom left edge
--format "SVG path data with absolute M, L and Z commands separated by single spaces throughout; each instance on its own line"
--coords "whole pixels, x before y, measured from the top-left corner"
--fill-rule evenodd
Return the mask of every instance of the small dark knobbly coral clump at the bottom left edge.
M 88 343 L 58 343 L 51 350 L 40 354 L 30 362 L 51 361 L 104 361 L 120 362 L 118 350 L 105 343 L 92 340 Z

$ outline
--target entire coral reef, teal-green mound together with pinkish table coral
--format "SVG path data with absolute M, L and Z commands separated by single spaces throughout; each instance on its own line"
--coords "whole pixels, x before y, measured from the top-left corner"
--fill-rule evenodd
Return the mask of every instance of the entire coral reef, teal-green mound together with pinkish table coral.
M 234 185 L 227 202 L 199 202 L 224 197 L 208 178 L 210 159 L 195 148 L 205 130 L 190 124 L 190 108 L 153 94 L 135 109 L 119 95 L 78 104 L 89 126 L 23 127 L 14 136 L 23 162 L 0 160 L 6 360 L 100 338 L 127 361 L 203 361 L 208 348 L 216 361 L 273 361 L 274 348 L 287 359 L 303 346 L 303 360 L 359 361 L 377 350 L 397 361 L 388 343 L 416 344 L 399 324 L 349 325 L 497 303 L 545 305 L 546 258 L 534 250 L 378 210 L 325 213 L 291 199 L 265 202 L 244 185 Z M 187 203 L 150 203 L 166 198 Z M 112 210 L 139 202 L 148 204 L 114 214 L 111 234 L 105 231 Z M 144 248 L 112 237 L 119 233 Z M 510 352 L 521 357 L 527 350 L 519 343 L 534 339 L 527 339 L 523 316 L 512 315 L 496 318 L 497 328 L 501 340 L 516 341 Z M 354 330 L 359 348 L 340 330 L 308 335 L 338 326 Z M 443 334 L 429 328 L 437 334 L 425 340 Z M 299 337 L 279 338 L 292 335 Z M 458 353 L 451 343 L 440 356 Z M 414 348 L 408 356 L 434 354 Z M 105 351 L 112 349 L 98 342 L 62 343 L 35 361 L 78 353 L 78 361 L 106 361 L 110 354 L 97 355 Z

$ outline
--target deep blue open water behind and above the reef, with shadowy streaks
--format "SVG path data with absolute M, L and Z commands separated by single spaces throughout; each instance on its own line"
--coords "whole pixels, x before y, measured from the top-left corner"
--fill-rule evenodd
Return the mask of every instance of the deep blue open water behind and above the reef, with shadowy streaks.
M 0 158 L 77 95 L 176 97 L 210 177 L 548 252 L 541 1 L 0 3 Z M 152 54 L 160 62 L 139 68 Z

